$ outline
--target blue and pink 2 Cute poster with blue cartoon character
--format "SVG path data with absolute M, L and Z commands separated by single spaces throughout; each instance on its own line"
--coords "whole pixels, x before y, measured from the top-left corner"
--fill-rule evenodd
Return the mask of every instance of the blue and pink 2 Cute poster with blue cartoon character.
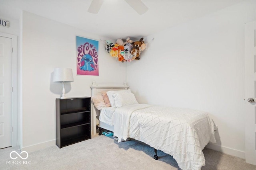
M 76 74 L 99 75 L 99 41 L 76 36 Z

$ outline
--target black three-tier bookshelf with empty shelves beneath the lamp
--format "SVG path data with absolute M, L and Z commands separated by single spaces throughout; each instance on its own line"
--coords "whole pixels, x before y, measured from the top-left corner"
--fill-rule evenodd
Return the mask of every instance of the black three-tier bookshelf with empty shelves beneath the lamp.
M 91 139 L 91 98 L 56 99 L 56 145 Z

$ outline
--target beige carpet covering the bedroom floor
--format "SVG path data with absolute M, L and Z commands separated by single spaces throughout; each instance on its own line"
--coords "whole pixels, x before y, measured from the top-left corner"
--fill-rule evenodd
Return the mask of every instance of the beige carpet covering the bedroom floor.
M 158 160 L 152 158 L 154 149 L 135 141 L 117 143 L 111 137 L 94 136 L 62 149 L 57 146 L 31 152 L 23 162 L 6 164 L 12 148 L 0 150 L 1 170 L 177 170 L 177 162 L 172 156 L 158 151 Z M 17 150 L 17 152 L 20 152 Z M 256 170 L 243 159 L 223 154 L 211 149 L 203 150 L 206 165 L 202 170 Z M 15 153 L 12 153 L 15 157 Z M 26 154 L 22 154 L 26 157 Z M 30 161 L 30 162 L 29 162 Z M 25 163 L 25 164 L 23 164 Z M 30 163 L 30 164 L 28 164 Z

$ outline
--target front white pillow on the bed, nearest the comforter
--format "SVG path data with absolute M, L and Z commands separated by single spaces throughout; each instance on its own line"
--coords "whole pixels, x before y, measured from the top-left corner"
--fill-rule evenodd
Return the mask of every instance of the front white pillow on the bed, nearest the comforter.
M 138 104 L 132 92 L 116 92 L 112 96 L 114 97 L 116 107 Z

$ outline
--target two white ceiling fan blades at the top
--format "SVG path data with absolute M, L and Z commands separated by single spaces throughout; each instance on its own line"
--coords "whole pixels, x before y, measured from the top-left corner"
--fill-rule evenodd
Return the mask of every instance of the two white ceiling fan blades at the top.
M 124 0 L 129 4 L 138 14 L 142 15 L 147 12 L 148 7 L 146 7 L 141 0 Z M 97 14 L 103 4 L 103 0 L 92 0 L 90 7 L 88 8 L 88 12 L 92 14 Z

